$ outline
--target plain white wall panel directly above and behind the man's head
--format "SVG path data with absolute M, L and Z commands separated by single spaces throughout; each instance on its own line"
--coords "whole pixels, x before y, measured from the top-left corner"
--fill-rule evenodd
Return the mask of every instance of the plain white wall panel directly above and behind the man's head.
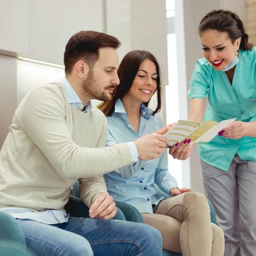
M 28 0 L 27 57 L 63 65 L 68 39 L 81 30 L 103 32 L 103 13 L 103 0 Z

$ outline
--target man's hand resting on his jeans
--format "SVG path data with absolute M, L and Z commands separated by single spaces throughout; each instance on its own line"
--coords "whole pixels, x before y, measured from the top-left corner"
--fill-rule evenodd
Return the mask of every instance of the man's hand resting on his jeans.
M 101 193 L 91 204 L 89 213 L 91 218 L 112 219 L 117 213 L 113 197 L 106 193 Z

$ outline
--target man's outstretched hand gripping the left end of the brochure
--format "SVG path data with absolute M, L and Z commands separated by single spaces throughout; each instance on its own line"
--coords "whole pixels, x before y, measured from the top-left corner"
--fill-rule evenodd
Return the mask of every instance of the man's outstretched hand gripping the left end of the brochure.
M 134 143 L 137 147 L 139 159 L 152 160 L 164 153 L 167 138 L 164 135 L 152 133 L 138 138 Z

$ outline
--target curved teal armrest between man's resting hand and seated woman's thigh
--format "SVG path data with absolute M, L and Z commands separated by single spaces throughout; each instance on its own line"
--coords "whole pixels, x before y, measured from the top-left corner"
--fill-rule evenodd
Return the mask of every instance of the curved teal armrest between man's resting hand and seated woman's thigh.
M 139 210 L 125 202 L 115 201 L 116 206 L 123 212 L 127 221 L 144 223 Z

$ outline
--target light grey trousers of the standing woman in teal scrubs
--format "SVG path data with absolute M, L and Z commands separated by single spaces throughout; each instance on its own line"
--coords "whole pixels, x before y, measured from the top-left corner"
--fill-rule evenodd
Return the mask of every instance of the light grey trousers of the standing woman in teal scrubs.
M 224 256 L 256 256 L 256 162 L 236 154 L 224 172 L 201 161 L 204 189 L 225 234 Z

